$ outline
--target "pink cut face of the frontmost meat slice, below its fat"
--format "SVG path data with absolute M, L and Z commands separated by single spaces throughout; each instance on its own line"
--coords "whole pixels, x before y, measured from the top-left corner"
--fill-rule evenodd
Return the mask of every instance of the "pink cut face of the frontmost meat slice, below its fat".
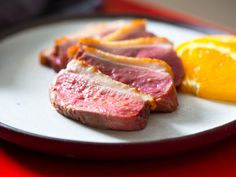
M 85 75 L 71 72 L 58 75 L 53 91 L 59 100 L 76 110 L 110 116 L 135 117 L 145 106 L 139 97 L 104 87 Z

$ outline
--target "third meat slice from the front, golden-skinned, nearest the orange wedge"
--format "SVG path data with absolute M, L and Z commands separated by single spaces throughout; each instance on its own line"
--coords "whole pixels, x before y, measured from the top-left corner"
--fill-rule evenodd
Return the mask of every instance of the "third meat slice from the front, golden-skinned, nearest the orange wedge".
M 124 41 L 83 38 L 79 40 L 79 43 L 121 56 L 161 59 L 171 66 L 174 72 L 175 86 L 179 86 L 184 78 L 182 62 L 173 45 L 166 38 L 147 37 Z

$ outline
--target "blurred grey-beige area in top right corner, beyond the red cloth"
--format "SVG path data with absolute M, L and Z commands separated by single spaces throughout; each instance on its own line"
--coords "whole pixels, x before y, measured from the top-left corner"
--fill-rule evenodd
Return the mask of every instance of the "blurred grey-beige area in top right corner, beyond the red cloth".
M 236 30 L 236 0 L 133 0 L 153 7 L 166 7 Z

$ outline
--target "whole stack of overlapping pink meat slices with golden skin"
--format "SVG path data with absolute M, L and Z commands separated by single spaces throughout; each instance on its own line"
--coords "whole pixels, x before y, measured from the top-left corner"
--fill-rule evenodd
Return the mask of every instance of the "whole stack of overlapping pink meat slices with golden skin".
M 41 52 L 42 64 L 61 70 L 50 88 L 58 112 L 92 127 L 138 130 L 150 111 L 177 108 L 182 63 L 166 38 L 146 31 L 144 20 L 87 36 Z

